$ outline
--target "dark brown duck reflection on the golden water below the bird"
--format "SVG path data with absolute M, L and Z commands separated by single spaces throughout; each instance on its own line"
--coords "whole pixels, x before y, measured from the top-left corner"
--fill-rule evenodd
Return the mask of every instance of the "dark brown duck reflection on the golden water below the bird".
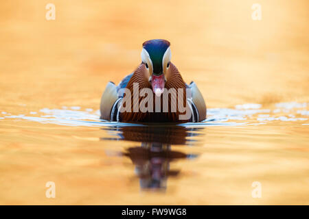
M 195 158 L 196 155 L 172 151 L 171 146 L 194 144 L 189 136 L 196 136 L 196 129 L 187 129 L 176 125 L 151 125 L 142 127 L 113 127 L 118 138 L 108 140 L 126 140 L 140 142 L 141 146 L 130 147 L 122 155 L 129 157 L 135 165 L 139 185 L 143 190 L 165 190 L 168 177 L 176 177 L 180 170 L 170 170 L 170 163 L 177 159 Z M 107 140 L 104 138 L 104 140 Z

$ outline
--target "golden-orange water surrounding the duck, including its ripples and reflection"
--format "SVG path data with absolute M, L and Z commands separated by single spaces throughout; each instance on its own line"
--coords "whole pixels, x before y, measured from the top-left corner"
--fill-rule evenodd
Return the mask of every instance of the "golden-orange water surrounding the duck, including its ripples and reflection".
M 53 0 L 55 21 L 46 3 L 1 3 L 0 204 L 309 204 L 308 1 L 261 0 L 262 21 L 251 0 Z M 99 120 L 152 38 L 205 123 Z

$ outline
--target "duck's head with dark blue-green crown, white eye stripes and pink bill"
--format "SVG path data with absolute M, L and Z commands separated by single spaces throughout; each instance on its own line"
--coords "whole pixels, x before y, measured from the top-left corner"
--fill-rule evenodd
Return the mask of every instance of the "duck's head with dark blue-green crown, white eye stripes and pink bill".
M 168 40 L 148 40 L 143 43 L 141 62 L 146 67 L 152 91 L 157 96 L 161 96 L 164 91 L 170 59 L 170 42 Z

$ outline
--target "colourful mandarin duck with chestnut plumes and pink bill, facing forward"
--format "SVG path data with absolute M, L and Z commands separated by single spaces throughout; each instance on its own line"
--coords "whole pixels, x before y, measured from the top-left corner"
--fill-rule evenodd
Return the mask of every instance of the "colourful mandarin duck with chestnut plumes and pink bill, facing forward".
M 142 44 L 141 64 L 101 96 L 100 119 L 124 123 L 199 123 L 207 107 L 194 81 L 187 84 L 171 62 L 170 42 Z M 178 105 L 177 105 L 178 104 Z

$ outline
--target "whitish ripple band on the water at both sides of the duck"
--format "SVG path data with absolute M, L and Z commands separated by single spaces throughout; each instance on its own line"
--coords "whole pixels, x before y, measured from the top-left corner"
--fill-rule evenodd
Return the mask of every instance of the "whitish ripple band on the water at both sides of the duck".
M 183 123 L 179 126 L 183 127 L 211 127 L 211 126 L 243 126 L 243 125 L 264 125 L 271 121 L 293 122 L 308 120 L 301 116 L 309 116 L 307 103 L 277 103 L 279 107 L 275 110 L 261 109 L 262 105 L 255 103 L 247 103 L 236 105 L 235 109 L 229 108 L 212 108 L 207 110 L 207 119 L 201 123 Z M 283 109 L 280 109 L 283 108 Z M 293 110 L 296 108 L 297 110 Z M 69 110 L 71 109 L 71 110 Z M 18 116 L 10 115 L 2 112 L 5 118 L 16 118 L 38 123 L 49 123 L 65 126 L 82 126 L 82 127 L 106 127 L 106 126 L 144 126 L 137 123 L 117 123 L 100 120 L 100 110 L 86 108 L 80 110 L 81 107 L 62 106 L 62 109 L 43 108 L 38 112 L 30 112 L 31 115 L 19 114 Z M 284 115 L 284 113 L 286 113 Z M 37 116 L 34 116 L 37 115 Z M 303 124 L 306 125 L 306 124 Z

